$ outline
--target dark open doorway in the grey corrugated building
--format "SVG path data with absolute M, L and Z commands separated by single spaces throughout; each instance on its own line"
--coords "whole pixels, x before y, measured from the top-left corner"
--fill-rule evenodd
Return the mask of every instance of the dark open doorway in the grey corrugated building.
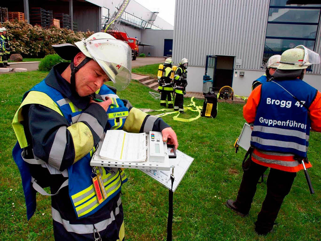
M 220 56 L 216 55 L 216 69 L 214 70 L 215 90 L 220 90 L 221 87 L 228 85 L 232 87 L 234 69 L 234 56 Z

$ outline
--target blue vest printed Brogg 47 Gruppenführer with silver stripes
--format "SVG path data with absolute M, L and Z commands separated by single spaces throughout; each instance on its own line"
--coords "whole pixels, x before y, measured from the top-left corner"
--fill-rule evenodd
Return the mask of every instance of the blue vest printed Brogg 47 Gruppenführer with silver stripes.
M 315 99 L 317 90 L 300 79 L 274 81 L 300 102 L 281 86 L 273 82 L 263 83 L 251 146 L 306 157 L 311 124 L 306 107 L 309 108 Z

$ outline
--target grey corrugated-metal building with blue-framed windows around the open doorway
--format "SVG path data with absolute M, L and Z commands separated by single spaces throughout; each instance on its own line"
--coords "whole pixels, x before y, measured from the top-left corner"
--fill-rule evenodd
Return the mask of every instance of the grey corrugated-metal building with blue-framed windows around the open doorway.
M 213 86 L 248 96 L 265 73 L 264 62 L 297 45 L 321 52 L 321 4 L 287 0 L 176 0 L 173 60 L 187 58 L 187 91 L 202 92 L 205 61 Z M 188 16 L 188 18 L 186 17 Z M 320 64 L 304 81 L 321 89 Z

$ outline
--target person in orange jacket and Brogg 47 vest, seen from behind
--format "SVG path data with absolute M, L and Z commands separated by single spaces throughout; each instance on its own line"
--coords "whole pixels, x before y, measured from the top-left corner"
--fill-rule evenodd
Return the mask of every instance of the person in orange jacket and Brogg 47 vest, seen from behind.
M 243 107 L 243 116 L 253 123 L 253 153 L 244 166 L 236 201 L 226 206 L 247 216 L 256 184 L 270 167 L 267 193 L 257 216 L 255 231 L 266 235 L 273 229 L 283 199 L 290 192 L 296 173 L 311 167 L 307 158 L 310 127 L 321 132 L 321 93 L 302 81 L 306 68 L 320 63 L 317 53 L 299 45 L 282 53 L 274 79 L 257 86 Z M 251 149 L 250 148 L 250 149 Z M 252 150 L 252 149 L 251 149 Z

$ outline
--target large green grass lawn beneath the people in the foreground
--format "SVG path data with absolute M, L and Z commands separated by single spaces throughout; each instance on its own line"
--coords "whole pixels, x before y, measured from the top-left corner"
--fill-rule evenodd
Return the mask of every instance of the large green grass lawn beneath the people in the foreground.
M 0 75 L 0 240 L 53 240 L 50 198 L 37 195 L 37 210 L 27 222 L 26 207 L 18 168 L 11 156 L 16 138 L 11 126 L 22 95 L 40 82 L 47 72 Z M 151 89 L 137 81 L 117 94 L 135 107 L 159 109 Z M 185 98 L 185 104 L 190 99 Z M 202 100 L 196 104 L 202 105 Z M 285 198 L 274 232 L 259 237 L 254 222 L 266 194 L 266 179 L 257 185 L 252 209 L 242 218 L 225 207 L 237 195 L 242 178 L 244 150 L 234 153 L 233 144 L 244 119 L 241 104 L 219 103 L 215 119 L 192 122 L 163 119 L 178 136 L 178 149 L 195 158 L 174 193 L 173 240 L 320 240 L 321 239 L 321 134 L 310 134 L 309 174 L 315 194 L 310 195 L 301 171 Z M 156 114 L 156 112 L 154 112 Z M 194 117 L 195 112 L 182 115 Z M 123 185 L 126 240 L 166 240 L 168 190 L 139 170 L 126 170 Z M 215 197 L 216 196 L 216 197 Z M 13 204 L 14 203 L 14 204 Z

